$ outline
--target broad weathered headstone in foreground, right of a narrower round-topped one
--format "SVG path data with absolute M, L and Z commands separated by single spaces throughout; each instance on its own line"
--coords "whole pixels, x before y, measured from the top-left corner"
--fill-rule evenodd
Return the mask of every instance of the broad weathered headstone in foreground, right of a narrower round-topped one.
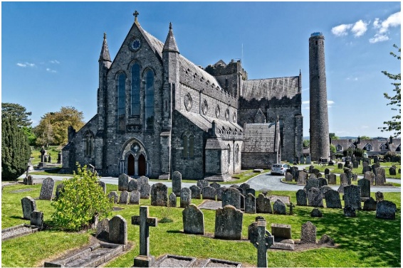
M 214 237 L 226 240 L 241 240 L 244 213 L 233 205 L 216 209 Z

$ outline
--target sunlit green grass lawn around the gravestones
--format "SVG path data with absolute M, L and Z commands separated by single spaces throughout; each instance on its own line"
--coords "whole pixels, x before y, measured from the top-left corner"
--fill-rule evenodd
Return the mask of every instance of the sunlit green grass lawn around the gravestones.
M 32 189 L 23 193 L 12 191 Z M 28 223 L 21 219 L 21 198 L 29 195 L 37 198 L 41 185 L 6 186 L 1 198 L 1 228 Z M 108 185 L 107 191 L 116 191 L 117 186 Z M 169 193 L 171 189 L 169 189 Z M 273 191 L 276 195 L 289 195 L 295 204 L 295 193 L 289 191 Z M 371 193 L 375 198 L 375 193 Z M 300 238 L 300 227 L 311 221 L 317 227 L 317 240 L 323 234 L 332 237 L 337 248 L 319 248 L 301 252 L 269 250 L 269 267 L 400 267 L 401 266 L 401 194 L 384 193 L 384 199 L 397 205 L 396 220 L 379 220 L 375 211 L 357 211 L 356 218 L 346 218 L 341 209 L 320 208 L 323 218 L 310 218 L 312 207 L 295 206 L 294 215 L 263 215 L 270 231 L 271 223 L 291 225 L 293 239 Z M 199 205 L 202 200 L 193 200 Z M 141 205 L 150 205 L 150 200 L 140 200 Z M 179 204 L 179 198 L 178 198 Z M 51 220 L 51 201 L 36 200 L 37 210 L 44 213 L 45 223 Z M 106 264 L 107 267 L 131 267 L 133 259 L 139 254 L 139 229 L 131 225 L 131 217 L 139 215 L 139 205 L 115 205 L 123 208 L 112 212 L 122 215 L 127 221 L 128 240 L 134 247 L 120 257 Z M 185 235 L 182 224 L 182 208 L 164 208 L 150 206 L 150 216 L 159 219 L 164 216 L 172 218 L 172 223 L 159 223 L 150 227 L 150 252 L 155 257 L 162 254 L 177 254 L 193 257 L 214 257 L 242 262 L 245 266 L 256 266 L 257 250 L 250 242 L 242 240 L 224 241 L 201 235 Z M 288 209 L 287 209 L 288 210 Z M 214 234 L 215 212 L 202 210 L 204 213 L 204 230 Z M 257 214 L 244 214 L 242 236 L 248 236 L 248 225 Z M 25 237 L 18 237 L 2 242 L 2 267 L 40 267 L 43 259 L 56 258 L 65 250 L 82 247 L 89 241 L 95 230 L 87 232 L 60 232 L 43 230 Z

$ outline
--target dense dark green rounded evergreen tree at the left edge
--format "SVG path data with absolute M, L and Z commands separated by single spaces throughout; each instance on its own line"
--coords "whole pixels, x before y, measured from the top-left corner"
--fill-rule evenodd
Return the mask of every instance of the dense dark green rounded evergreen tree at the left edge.
M 31 147 L 14 117 L 1 120 L 1 180 L 16 180 L 26 171 Z

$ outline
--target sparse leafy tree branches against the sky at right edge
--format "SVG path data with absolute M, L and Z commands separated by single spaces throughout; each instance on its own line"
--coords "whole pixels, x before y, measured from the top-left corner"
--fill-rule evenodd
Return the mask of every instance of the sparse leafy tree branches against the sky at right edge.
M 398 50 L 400 53 L 400 48 L 397 45 L 393 45 L 394 48 Z M 397 58 L 397 60 L 400 60 L 400 55 L 396 55 L 395 53 L 391 52 L 390 55 L 392 55 L 394 58 Z M 396 114 L 392 117 L 392 120 L 385 121 L 383 122 L 385 127 L 378 127 L 378 129 L 381 129 L 381 132 L 394 132 L 394 136 L 399 136 L 401 133 L 401 124 L 402 122 L 400 121 L 400 113 L 402 112 L 400 109 L 400 73 L 397 75 L 393 75 L 391 73 L 388 73 L 387 71 L 382 71 L 384 75 L 389 77 L 389 79 L 394 80 L 395 82 L 392 82 L 391 84 L 394 85 L 394 92 L 395 95 L 389 95 L 386 92 L 383 94 L 384 97 L 389 100 L 390 102 L 387 105 L 396 105 L 399 108 L 391 108 L 393 111 L 397 111 L 399 109 L 399 114 Z

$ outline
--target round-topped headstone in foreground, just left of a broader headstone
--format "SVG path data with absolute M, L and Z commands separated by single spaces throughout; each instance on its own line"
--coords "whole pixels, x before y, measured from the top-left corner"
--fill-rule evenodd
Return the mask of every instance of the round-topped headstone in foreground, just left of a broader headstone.
M 204 215 L 196 205 L 190 204 L 182 210 L 185 234 L 204 235 Z

